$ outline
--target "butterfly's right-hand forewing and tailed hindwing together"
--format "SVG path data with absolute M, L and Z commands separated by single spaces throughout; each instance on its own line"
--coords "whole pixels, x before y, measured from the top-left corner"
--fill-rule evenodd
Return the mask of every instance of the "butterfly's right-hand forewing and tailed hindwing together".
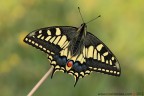
M 68 61 L 73 64 L 72 68 L 67 70 L 67 73 L 74 75 L 74 86 L 79 78 L 83 78 L 93 71 L 120 76 L 121 69 L 117 58 L 101 40 L 87 32 L 83 44 L 84 47 L 80 54 L 72 56 L 73 58 L 65 58 L 66 64 Z

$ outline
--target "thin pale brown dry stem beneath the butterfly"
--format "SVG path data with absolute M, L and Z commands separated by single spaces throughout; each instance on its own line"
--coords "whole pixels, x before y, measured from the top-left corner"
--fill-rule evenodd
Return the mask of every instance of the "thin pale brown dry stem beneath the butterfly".
M 47 71 L 47 73 L 41 78 L 41 80 L 33 87 L 33 89 L 29 92 L 27 96 L 32 96 L 35 93 L 35 91 L 40 87 L 40 85 L 48 78 L 52 70 L 53 70 L 53 66 Z

